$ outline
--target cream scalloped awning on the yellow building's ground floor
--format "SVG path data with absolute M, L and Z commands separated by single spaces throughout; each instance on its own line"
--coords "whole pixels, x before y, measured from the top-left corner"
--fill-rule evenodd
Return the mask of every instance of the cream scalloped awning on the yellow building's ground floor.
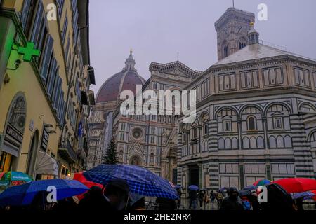
M 37 155 L 37 174 L 58 176 L 56 160 L 43 151 L 39 151 Z

